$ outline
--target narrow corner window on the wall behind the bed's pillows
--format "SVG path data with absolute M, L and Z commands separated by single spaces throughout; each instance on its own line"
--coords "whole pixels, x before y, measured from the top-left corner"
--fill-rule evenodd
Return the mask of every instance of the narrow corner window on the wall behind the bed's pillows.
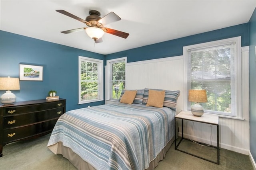
M 126 75 L 126 57 L 113 59 L 107 61 L 108 69 L 108 89 L 107 98 L 110 100 L 118 100 L 121 92 L 125 89 L 125 75 Z

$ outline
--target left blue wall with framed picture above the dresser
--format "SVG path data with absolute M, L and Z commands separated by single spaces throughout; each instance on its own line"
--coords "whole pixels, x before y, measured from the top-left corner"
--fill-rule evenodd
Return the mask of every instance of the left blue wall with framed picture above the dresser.
M 14 90 L 17 102 L 44 99 L 49 90 L 66 99 L 66 110 L 87 107 L 78 105 L 78 56 L 104 59 L 104 55 L 22 35 L 0 31 L 0 77 L 19 77 L 19 64 L 43 66 L 43 81 L 20 81 Z M 0 95 L 5 91 L 0 90 Z M 103 102 L 90 103 L 90 106 Z

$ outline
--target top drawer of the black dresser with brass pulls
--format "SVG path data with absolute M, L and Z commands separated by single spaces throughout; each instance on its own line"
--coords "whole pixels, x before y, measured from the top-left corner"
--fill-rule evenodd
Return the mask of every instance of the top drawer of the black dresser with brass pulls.
M 28 112 L 35 112 L 39 110 L 47 110 L 52 108 L 64 107 L 65 101 L 56 101 L 56 102 L 46 102 L 44 104 L 33 104 L 27 106 L 13 106 L 13 107 L 6 107 L 3 108 L 3 115 L 16 115 L 20 113 L 28 113 Z

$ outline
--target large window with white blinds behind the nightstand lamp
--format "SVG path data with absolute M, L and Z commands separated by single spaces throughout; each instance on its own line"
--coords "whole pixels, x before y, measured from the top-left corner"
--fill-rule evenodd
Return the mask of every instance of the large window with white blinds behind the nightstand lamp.
M 186 66 L 186 99 L 189 89 L 206 89 L 205 113 L 242 118 L 241 37 L 183 48 Z M 186 109 L 194 103 L 186 100 Z

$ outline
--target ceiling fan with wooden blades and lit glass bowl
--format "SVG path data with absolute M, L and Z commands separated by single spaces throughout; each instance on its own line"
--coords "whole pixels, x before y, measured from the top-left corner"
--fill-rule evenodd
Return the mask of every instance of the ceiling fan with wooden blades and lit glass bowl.
M 70 14 L 69 12 L 66 12 L 64 10 L 56 10 L 56 11 L 61 14 L 66 15 L 66 16 L 69 16 L 71 18 L 74 18 L 75 20 L 81 21 L 82 23 L 85 23 L 87 25 L 87 27 L 70 29 L 67 31 L 61 31 L 61 33 L 68 34 L 68 33 L 73 33 L 76 31 L 85 30 L 86 33 L 88 34 L 88 36 L 91 37 L 95 41 L 95 43 L 102 42 L 101 37 L 104 35 L 105 32 L 110 33 L 112 35 L 116 35 L 118 37 L 122 37 L 122 38 L 127 38 L 129 35 L 129 33 L 125 33 L 122 31 L 104 27 L 104 25 L 121 20 L 121 18 L 119 16 L 117 16 L 114 12 L 110 12 L 103 18 L 100 18 L 100 12 L 98 12 L 96 10 L 90 10 L 89 16 L 87 16 L 86 19 L 83 20 L 83 19 L 81 19 L 77 16 L 74 16 L 73 14 Z

